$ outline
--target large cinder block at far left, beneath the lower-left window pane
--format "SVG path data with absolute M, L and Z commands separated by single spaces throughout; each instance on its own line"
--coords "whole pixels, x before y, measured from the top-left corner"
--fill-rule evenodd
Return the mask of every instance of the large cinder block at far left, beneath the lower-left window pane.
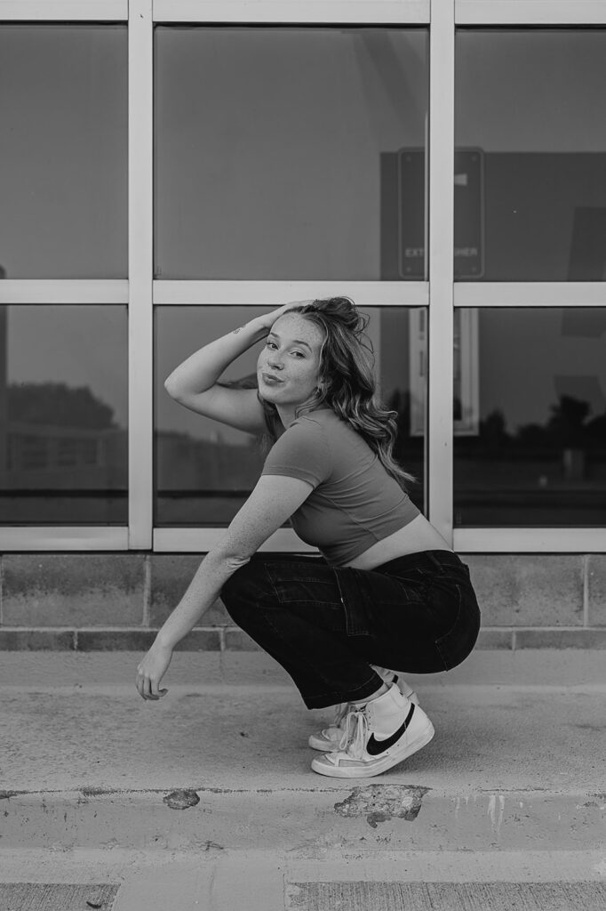
M 8 626 L 107 626 L 143 621 L 144 558 L 136 554 L 6 554 Z

